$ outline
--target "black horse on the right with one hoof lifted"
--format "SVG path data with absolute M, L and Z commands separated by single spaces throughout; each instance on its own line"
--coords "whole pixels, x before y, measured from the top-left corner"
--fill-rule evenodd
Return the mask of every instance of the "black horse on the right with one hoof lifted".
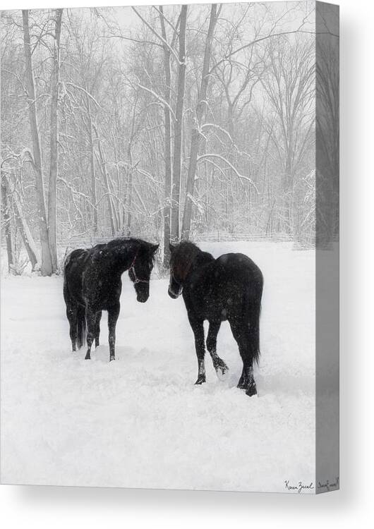
M 248 396 L 257 393 L 253 363 L 260 355 L 260 309 L 263 295 L 263 274 L 255 263 L 242 253 L 227 253 L 215 259 L 193 243 L 170 245 L 169 296 L 181 294 L 188 320 L 195 335 L 198 356 L 198 379 L 205 382 L 204 320 L 209 322 L 207 350 L 217 375 L 228 367 L 217 355 L 217 334 L 221 322 L 229 320 L 239 346 L 243 372 L 238 387 Z

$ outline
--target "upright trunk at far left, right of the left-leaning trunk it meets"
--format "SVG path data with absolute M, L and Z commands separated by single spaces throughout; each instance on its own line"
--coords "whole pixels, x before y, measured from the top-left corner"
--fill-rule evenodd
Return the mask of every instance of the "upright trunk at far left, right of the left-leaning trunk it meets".
M 49 250 L 52 259 L 52 272 L 57 270 L 57 248 L 56 248 L 56 190 L 57 171 L 59 165 L 58 147 L 58 106 L 59 106 L 59 82 L 60 82 L 60 36 L 61 19 L 63 9 L 56 9 L 56 20 L 54 24 L 54 65 L 52 74 L 51 95 L 51 140 L 50 140 L 50 169 L 48 189 L 48 237 Z

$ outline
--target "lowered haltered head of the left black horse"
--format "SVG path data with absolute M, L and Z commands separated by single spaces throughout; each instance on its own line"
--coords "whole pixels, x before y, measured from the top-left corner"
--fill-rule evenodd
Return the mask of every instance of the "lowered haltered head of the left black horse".
M 134 284 L 136 299 L 140 303 L 145 303 L 150 296 L 150 274 L 158 247 L 158 244 L 150 243 L 140 245 L 128 269 L 128 276 Z

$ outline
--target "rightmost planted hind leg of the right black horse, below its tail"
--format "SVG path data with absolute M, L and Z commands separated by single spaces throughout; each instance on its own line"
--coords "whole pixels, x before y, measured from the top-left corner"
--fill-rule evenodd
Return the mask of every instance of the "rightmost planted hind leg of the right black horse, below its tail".
M 255 379 L 253 378 L 253 359 L 255 358 L 255 351 L 253 351 L 250 329 L 248 329 L 248 322 L 244 320 L 231 320 L 230 327 L 234 339 L 239 347 L 241 360 L 243 360 L 243 371 L 238 382 L 238 387 L 246 390 L 248 396 L 257 394 Z

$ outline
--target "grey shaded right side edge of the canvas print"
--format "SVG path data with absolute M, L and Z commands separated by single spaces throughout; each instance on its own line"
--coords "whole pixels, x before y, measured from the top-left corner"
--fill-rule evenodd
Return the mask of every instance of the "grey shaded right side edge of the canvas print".
M 315 494 L 320 494 L 339 490 L 339 6 L 315 2 L 315 32 Z M 319 75 L 324 66 L 334 78 L 333 134 Z

